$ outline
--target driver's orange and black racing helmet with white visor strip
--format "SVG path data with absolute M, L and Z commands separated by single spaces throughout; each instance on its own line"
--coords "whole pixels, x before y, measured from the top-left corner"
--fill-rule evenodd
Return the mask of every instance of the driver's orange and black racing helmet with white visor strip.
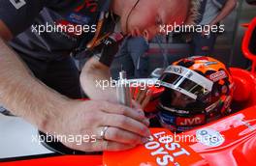
M 211 57 L 181 59 L 164 70 L 159 84 L 162 126 L 182 132 L 231 113 L 234 83 L 225 65 Z

